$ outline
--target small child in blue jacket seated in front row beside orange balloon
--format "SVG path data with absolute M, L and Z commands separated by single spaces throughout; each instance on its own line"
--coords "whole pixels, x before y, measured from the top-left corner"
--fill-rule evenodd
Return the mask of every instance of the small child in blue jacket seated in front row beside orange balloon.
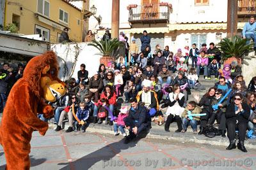
M 81 132 L 85 132 L 85 125 L 87 124 L 86 120 L 88 120 L 89 115 L 90 112 L 88 109 L 86 109 L 86 104 L 84 102 L 81 102 L 76 112 L 76 117 L 79 119 L 80 122 L 76 122 L 75 131 L 81 128 Z

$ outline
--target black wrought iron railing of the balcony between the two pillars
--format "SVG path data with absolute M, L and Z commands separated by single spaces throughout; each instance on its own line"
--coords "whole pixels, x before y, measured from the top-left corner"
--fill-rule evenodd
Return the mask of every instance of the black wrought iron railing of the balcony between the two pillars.
M 148 4 L 129 9 L 129 21 L 136 20 L 167 20 L 169 21 L 170 7 L 160 4 Z

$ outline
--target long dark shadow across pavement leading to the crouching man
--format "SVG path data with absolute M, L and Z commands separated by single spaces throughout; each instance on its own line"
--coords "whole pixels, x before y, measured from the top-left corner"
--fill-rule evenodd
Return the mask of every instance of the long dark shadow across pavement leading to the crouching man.
M 138 141 L 140 139 L 145 138 L 148 134 L 149 130 L 141 132 L 137 138 L 133 139 L 130 143 L 124 144 L 124 139 L 121 139 L 118 142 L 110 143 L 109 145 L 104 146 L 103 148 L 100 148 L 99 150 L 96 150 L 95 152 L 89 153 L 88 155 L 85 155 L 84 157 L 81 157 L 80 159 L 75 160 L 74 162 L 65 162 L 60 163 L 58 165 L 67 165 L 61 170 L 64 169 L 89 169 L 97 162 L 102 161 L 102 167 L 104 165 L 107 165 L 108 161 L 113 159 L 118 153 L 122 152 L 122 150 L 127 150 L 129 148 L 132 148 L 136 146 Z M 110 151 L 109 151 L 110 150 Z M 119 160 L 119 159 L 116 159 Z M 97 167 L 98 169 L 99 167 Z

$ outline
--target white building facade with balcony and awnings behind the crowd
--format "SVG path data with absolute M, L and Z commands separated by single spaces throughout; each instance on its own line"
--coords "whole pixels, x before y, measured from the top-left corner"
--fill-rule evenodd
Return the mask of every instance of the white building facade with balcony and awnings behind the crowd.
M 96 6 L 102 17 L 103 28 L 111 29 L 112 1 L 90 0 L 90 6 Z M 243 29 L 244 23 L 238 28 Z M 97 32 L 101 38 L 104 29 L 99 29 L 97 20 L 90 17 L 89 29 Z M 170 46 L 170 51 L 177 52 L 196 43 L 219 43 L 227 36 L 227 0 L 120 0 L 120 32 L 129 38 L 134 37 L 141 45 L 140 36 L 147 30 L 151 39 L 151 48 L 157 44 Z

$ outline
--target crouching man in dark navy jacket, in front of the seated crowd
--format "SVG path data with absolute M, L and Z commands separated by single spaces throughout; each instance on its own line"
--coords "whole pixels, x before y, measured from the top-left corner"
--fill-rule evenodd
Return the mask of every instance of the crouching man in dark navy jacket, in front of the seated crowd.
M 125 138 L 125 144 L 136 138 L 136 135 L 148 127 L 148 114 L 145 106 L 140 106 L 136 98 L 132 98 L 130 103 L 129 115 L 124 118 L 125 127 L 129 129 L 129 136 Z

